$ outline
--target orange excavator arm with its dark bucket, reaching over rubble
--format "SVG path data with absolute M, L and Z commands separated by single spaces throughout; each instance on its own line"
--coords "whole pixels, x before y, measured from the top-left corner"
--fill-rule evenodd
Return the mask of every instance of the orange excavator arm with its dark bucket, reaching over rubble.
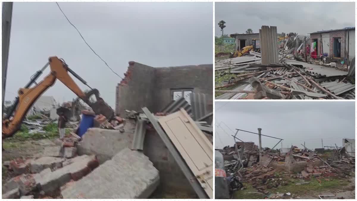
M 46 69 L 48 65 L 50 65 L 51 72 L 40 83 L 30 88 L 33 83 L 36 83 L 36 79 L 42 74 L 43 70 Z M 70 77 L 68 72 L 87 85 L 85 80 L 73 72 L 65 62 L 62 62 L 62 60 L 57 57 L 49 58 L 49 62 L 31 77 L 30 82 L 27 83 L 24 88 L 19 89 L 19 96 L 15 98 L 14 103 L 2 121 L 3 139 L 12 137 L 20 129 L 21 122 L 24 120 L 31 106 L 48 88 L 55 84 L 56 79 L 59 79 L 72 92 L 87 103 L 96 114 L 103 114 L 108 120 L 114 117 L 113 109 L 106 104 L 102 98 L 100 98 L 99 91 L 97 89 L 92 89 L 90 92 L 84 93 Z M 96 102 L 90 101 L 91 95 L 95 95 L 97 100 Z M 10 119 L 12 114 L 14 115 L 12 119 Z

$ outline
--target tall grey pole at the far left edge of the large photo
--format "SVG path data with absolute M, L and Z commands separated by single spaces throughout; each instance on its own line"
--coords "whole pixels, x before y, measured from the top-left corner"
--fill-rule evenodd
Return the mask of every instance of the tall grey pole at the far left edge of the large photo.
M 2 2 L 2 109 L 4 109 L 7 62 L 9 60 L 12 4 L 12 2 Z

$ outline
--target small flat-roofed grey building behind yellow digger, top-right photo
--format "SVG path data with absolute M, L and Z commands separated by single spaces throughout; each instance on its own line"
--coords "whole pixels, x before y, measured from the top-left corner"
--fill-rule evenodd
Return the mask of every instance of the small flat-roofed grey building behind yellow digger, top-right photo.
M 253 45 L 254 50 L 260 49 L 259 33 L 257 34 L 231 34 L 229 35 L 235 38 L 236 47 L 235 50 L 240 50 L 245 46 Z

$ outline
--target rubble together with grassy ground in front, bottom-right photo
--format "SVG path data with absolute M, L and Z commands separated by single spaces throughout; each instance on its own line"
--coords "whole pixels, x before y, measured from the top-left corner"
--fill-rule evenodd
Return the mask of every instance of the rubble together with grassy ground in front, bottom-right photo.
M 327 195 L 322 192 L 336 195 L 333 199 L 355 196 L 355 157 L 348 156 L 343 147 L 323 155 L 296 146 L 288 153 L 272 153 L 267 149 L 261 161 L 259 151 L 245 150 L 241 158 L 243 167 L 239 166 L 239 160 L 230 157 L 241 152 L 237 150 L 232 147 L 220 150 L 227 175 L 233 173 L 243 183 L 233 198 L 320 199 L 319 195 Z M 322 159 L 323 156 L 327 159 Z

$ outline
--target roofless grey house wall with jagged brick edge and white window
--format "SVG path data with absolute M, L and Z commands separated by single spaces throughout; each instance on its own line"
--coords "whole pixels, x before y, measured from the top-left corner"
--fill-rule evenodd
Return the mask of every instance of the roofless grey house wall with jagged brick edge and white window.
M 160 112 L 173 99 L 174 91 L 206 94 L 207 112 L 212 112 L 212 64 L 153 68 L 129 62 L 125 78 L 116 87 L 115 112 L 140 111 L 147 107 Z M 189 98 L 188 98 L 189 99 Z

